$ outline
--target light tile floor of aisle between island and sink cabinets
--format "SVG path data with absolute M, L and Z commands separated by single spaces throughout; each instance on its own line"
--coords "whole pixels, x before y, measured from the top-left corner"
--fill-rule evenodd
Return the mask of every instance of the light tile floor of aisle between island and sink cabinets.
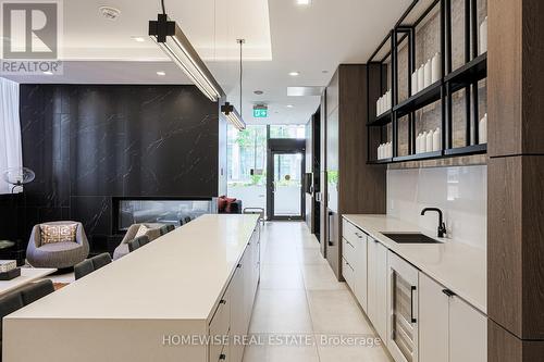
M 261 283 L 244 362 L 390 362 L 381 346 L 338 346 L 375 335 L 345 283 L 338 283 L 304 223 L 267 223 Z M 297 342 L 293 342 L 293 340 Z M 329 341 L 329 342 L 325 342 Z M 289 341 L 289 342 L 288 342 Z

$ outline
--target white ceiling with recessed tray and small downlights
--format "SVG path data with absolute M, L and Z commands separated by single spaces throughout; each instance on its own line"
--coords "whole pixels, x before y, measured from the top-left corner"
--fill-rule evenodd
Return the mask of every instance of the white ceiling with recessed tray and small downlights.
M 304 124 L 319 97 L 288 97 L 289 86 L 326 86 L 341 63 L 363 63 L 411 0 L 165 0 L 166 12 L 187 35 L 238 104 L 237 38 L 244 46 L 244 118 L 247 124 Z M 121 10 L 103 18 L 100 5 Z M 21 83 L 187 84 L 150 41 L 147 24 L 159 0 L 64 1 L 63 76 L 11 77 Z M 145 42 L 132 37 L 141 36 Z M 157 71 L 166 76 L 157 76 Z M 300 75 L 292 77 L 289 72 Z M 254 90 L 262 90 L 257 96 Z M 251 108 L 269 104 L 269 118 L 255 120 Z M 287 108 L 290 104 L 293 108 Z M 237 107 L 239 108 L 239 107 Z

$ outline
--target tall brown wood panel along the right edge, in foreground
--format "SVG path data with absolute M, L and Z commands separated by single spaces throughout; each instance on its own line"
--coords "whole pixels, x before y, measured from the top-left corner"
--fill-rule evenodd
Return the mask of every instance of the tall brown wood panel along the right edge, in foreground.
M 489 1 L 489 361 L 544 355 L 544 2 Z

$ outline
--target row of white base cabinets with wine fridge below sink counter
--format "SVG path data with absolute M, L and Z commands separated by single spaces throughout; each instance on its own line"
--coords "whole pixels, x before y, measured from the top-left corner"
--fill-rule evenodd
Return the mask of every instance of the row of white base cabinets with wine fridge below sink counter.
M 343 220 L 343 275 L 396 362 L 485 362 L 487 319 Z

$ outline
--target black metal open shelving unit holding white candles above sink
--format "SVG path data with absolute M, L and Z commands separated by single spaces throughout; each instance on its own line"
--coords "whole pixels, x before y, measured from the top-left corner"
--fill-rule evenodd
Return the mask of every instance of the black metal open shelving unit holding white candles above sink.
M 487 53 L 478 54 L 478 0 L 465 0 L 465 64 L 452 71 L 452 0 L 415 0 L 395 27 L 386 35 L 367 62 L 368 79 L 368 163 L 388 164 L 395 162 L 433 160 L 452 157 L 483 154 L 487 145 L 479 143 L 478 83 L 487 77 Z M 442 78 L 429 87 L 411 95 L 411 74 L 416 66 L 417 27 L 431 13 L 440 12 L 440 53 L 442 54 Z M 398 101 L 398 47 L 408 43 L 408 98 Z M 392 110 L 376 116 L 375 101 L 387 89 L 392 89 Z M 453 96 L 466 92 L 466 139 L 463 147 L 454 148 Z M 416 112 L 433 103 L 441 104 L 442 149 L 416 153 Z M 408 153 L 398 152 L 399 120 L 408 117 Z M 391 136 L 391 137 L 388 137 Z M 393 142 L 393 158 L 378 160 L 378 146 Z

